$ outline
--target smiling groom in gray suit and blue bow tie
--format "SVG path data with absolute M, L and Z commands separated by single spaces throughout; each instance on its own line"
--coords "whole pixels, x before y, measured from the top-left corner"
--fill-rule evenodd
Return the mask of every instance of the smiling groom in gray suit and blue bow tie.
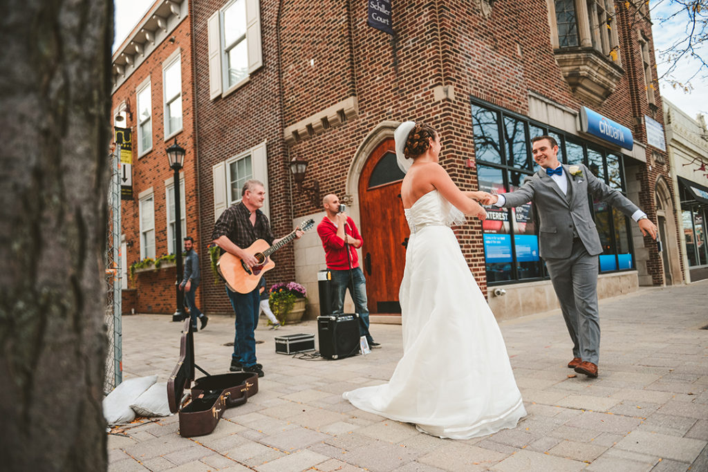
M 533 158 L 542 167 L 514 192 L 487 194 L 484 205 L 519 207 L 527 202 L 539 216 L 540 255 L 546 262 L 573 340 L 568 367 L 598 376 L 600 317 L 598 316 L 598 255 L 603 253 L 593 222 L 588 193 L 616 207 L 639 224 L 642 234 L 656 239 L 656 226 L 619 190 L 607 186 L 582 164 L 558 161 L 558 144 L 550 136 L 531 140 Z

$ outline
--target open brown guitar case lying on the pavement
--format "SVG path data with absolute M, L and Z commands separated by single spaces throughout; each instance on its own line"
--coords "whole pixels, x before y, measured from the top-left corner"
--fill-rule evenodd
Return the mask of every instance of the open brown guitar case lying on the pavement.
M 195 380 L 195 368 L 205 376 Z M 191 390 L 191 398 L 182 405 L 184 392 L 188 389 Z M 194 332 L 187 317 L 180 341 L 179 362 L 167 381 L 167 400 L 170 411 L 179 415 L 179 434 L 183 437 L 210 434 L 224 410 L 243 405 L 256 393 L 258 374 L 231 372 L 210 375 L 195 364 Z

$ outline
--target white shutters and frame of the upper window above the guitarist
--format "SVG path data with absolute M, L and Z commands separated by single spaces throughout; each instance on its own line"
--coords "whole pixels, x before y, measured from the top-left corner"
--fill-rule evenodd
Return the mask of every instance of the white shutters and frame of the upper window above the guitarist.
M 224 11 L 236 1 L 244 1 L 246 8 L 246 57 L 248 74 L 232 86 L 228 86 L 228 58 L 224 45 Z M 209 38 L 209 83 L 210 98 L 225 97 L 247 84 L 254 71 L 263 67 L 263 42 L 261 38 L 260 0 L 231 0 L 215 11 L 207 22 Z M 227 88 L 228 87 L 228 88 Z

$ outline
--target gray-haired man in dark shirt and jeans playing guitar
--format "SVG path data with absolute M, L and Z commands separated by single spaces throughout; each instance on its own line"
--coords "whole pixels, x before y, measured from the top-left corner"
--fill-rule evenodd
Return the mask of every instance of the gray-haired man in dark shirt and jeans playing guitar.
M 265 200 L 265 187 L 258 180 L 247 180 L 241 189 L 241 202 L 224 210 L 214 224 L 212 240 L 222 251 L 232 253 L 251 267 L 258 265 L 258 260 L 244 251 L 256 239 L 263 239 L 268 244 L 275 244 L 282 238 L 275 239 L 270 230 L 268 217 L 261 212 Z M 295 237 L 302 236 L 297 230 Z M 234 353 L 231 358 L 232 372 L 253 372 L 263 376 L 263 366 L 256 363 L 256 338 L 254 330 L 258 323 L 258 305 L 261 297 L 258 287 L 247 294 L 232 292 L 227 287 L 226 292 L 236 313 L 236 334 L 234 336 Z

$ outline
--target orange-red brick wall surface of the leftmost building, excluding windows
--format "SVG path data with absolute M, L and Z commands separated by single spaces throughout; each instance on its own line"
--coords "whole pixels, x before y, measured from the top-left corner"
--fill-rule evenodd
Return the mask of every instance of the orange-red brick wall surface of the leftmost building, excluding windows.
M 192 38 L 191 17 L 187 16 L 170 35 L 174 38 L 164 40 L 147 57 L 127 80 L 113 93 L 113 109 L 120 103 L 130 100 L 130 115 L 127 123 L 122 126 L 132 129 L 133 154 L 132 154 L 132 200 L 122 200 L 121 218 L 122 233 L 126 241 L 132 243 L 127 248 L 127 265 L 140 260 L 140 224 L 139 224 L 139 199 L 140 192 L 153 188 L 155 210 L 155 254 L 156 257 L 168 251 L 167 246 L 167 214 L 165 180 L 173 178 L 173 171 L 169 168 L 166 149 L 171 146 L 176 137 L 180 146 L 185 149 L 185 160 L 181 175 L 185 185 L 185 225 L 187 234 L 195 239 L 195 248 L 202 256 L 202 272 L 209 270 L 208 258 L 203 258 L 206 253 L 205 245 L 201 244 L 200 217 L 197 204 L 198 199 L 198 168 L 196 166 L 195 139 L 194 139 L 194 88 L 193 88 L 193 63 L 192 63 Z M 182 75 L 182 123 L 183 129 L 171 137 L 167 142 L 164 137 L 164 99 L 162 87 L 163 63 L 171 57 L 176 50 L 181 50 L 181 75 Z M 150 78 L 152 98 L 152 151 L 142 156 L 137 154 L 137 97 L 136 89 Z M 182 248 L 182 242 L 178 243 Z M 174 313 L 176 309 L 175 292 L 176 269 L 174 267 L 161 268 L 160 270 L 139 272 L 129 280 L 128 286 L 136 289 L 135 306 L 138 313 Z M 197 289 L 197 304 L 201 306 L 202 289 Z

